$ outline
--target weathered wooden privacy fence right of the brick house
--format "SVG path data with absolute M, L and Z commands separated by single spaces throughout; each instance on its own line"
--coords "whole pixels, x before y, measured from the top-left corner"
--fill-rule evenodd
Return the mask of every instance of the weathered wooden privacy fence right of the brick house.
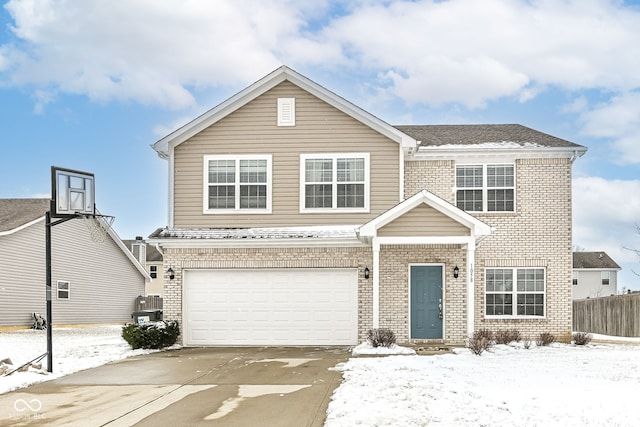
M 640 293 L 573 301 L 573 330 L 640 337 Z

